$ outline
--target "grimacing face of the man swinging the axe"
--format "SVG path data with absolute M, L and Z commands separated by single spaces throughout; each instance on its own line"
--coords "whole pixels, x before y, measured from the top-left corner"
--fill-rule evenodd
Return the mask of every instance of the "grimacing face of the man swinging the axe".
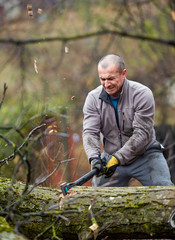
M 104 90 L 112 97 L 117 98 L 120 95 L 123 81 L 126 77 L 126 69 L 119 72 L 116 65 L 109 65 L 106 68 L 98 66 L 100 82 Z

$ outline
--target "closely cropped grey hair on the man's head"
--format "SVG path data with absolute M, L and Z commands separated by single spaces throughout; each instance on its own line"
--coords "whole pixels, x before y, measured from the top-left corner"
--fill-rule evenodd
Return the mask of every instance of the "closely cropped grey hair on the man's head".
M 115 54 L 106 55 L 102 57 L 98 62 L 98 66 L 101 66 L 102 68 L 107 68 L 110 64 L 116 65 L 120 73 L 122 73 L 122 71 L 125 69 L 124 60 Z

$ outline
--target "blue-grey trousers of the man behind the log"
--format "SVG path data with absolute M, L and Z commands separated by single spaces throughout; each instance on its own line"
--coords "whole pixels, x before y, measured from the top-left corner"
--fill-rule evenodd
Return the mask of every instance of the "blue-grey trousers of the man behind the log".
M 107 156 L 105 152 L 101 157 L 107 160 L 111 156 Z M 147 151 L 139 157 L 135 162 L 127 166 L 117 167 L 115 173 L 110 178 L 94 177 L 93 186 L 106 187 L 125 187 L 131 178 L 139 180 L 143 186 L 173 186 L 171 182 L 169 168 L 162 151 Z

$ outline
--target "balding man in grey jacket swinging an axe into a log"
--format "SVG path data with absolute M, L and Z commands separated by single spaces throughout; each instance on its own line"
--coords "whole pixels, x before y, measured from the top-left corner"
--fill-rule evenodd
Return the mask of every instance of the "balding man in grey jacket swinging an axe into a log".
M 99 173 L 96 185 L 123 187 L 131 178 L 144 186 L 173 185 L 155 138 L 153 94 L 126 73 L 121 57 L 103 57 L 98 63 L 101 85 L 84 104 L 83 145 L 91 168 Z

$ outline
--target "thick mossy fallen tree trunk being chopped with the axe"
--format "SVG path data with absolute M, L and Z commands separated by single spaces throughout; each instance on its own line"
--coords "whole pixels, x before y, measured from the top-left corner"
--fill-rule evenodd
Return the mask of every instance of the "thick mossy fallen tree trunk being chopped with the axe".
M 21 197 L 25 186 L 10 186 L 0 179 L 0 215 L 11 216 L 9 223 L 28 239 L 175 238 L 168 222 L 174 187 L 74 187 L 65 197 L 37 187 Z

